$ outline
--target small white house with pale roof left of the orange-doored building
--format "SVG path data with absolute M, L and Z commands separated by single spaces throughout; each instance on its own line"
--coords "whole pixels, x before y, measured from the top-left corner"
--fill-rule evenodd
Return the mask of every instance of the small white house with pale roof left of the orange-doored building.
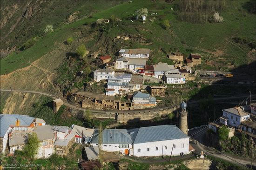
M 81 127 L 78 125 L 74 125 L 72 127 L 71 134 L 75 137 L 75 143 L 77 144 L 87 144 L 91 141 L 91 137 L 93 136 L 94 129 Z

